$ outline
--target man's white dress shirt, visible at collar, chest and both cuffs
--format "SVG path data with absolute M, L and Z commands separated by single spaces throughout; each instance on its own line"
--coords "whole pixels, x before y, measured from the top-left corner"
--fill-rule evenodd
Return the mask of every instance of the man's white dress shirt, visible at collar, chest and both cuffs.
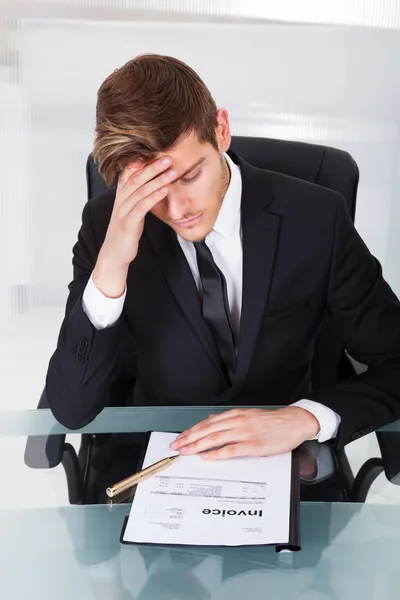
M 240 204 L 242 198 L 242 177 L 239 167 L 225 154 L 231 172 L 231 180 L 222 202 L 212 231 L 206 237 L 215 263 L 226 279 L 228 303 L 231 313 L 233 335 L 237 343 L 242 309 L 242 229 Z M 178 235 L 178 241 L 188 261 L 190 270 L 201 294 L 201 279 L 196 260 L 196 250 L 192 242 Z M 126 289 L 120 298 L 107 298 L 89 279 L 82 297 L 82 307 L 96 329 L 113 325 L 120 317 L 126 297 Z M 293 406 L 299 406 L 311 412 L 320 424 L 315 436 L 319 442 L 325 442 L 336 436 L 340 417 L 333 410 L 313 400 L 299 400 Z

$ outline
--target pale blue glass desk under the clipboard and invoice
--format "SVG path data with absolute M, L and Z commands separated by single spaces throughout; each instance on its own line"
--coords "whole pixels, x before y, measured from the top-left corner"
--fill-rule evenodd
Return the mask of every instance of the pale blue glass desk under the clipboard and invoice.
M 294 554 L 277 554 L 272 547 L 188 550 L 121 546 L 119 536 L 129 514 L 128 503 L 71 505 L 68 465 L 65 469 L 61 464 L 33 469 L 25 463 L 32 459 L 27 455 L 28 436 L 37 450 L 40 442 L 49 444 L 49 440 L 57 440 L 57 434 L 67 434 L 66 443 L 78 451 L 82 439 L 96 444 L 102 434 L 113 433 L 118 439 L 119 434 L 134 431 L 179 431 L 210 412 L 217 409 L 106 409 L 79 432 L 63 428 L 47 410 L 0 413 L 1 598 L 397 597 L 400 506 L 395 504 L 303 501 L 302 550 Z M 399 424 L 385 429 L 398 431 Z M 82 433 L 89 435 L 82 438 Z M 310 457 L 321 464 L 314 468 Z M 321 490 L 330 479 L 335 484 L 331 492 L 346 486 L 343 463 L 336 459 L 329 453 L 321 458 L 318 448 L 305 448 L 302 488 L 306 496 L 308 493 L 311 498 L 311 490 Z

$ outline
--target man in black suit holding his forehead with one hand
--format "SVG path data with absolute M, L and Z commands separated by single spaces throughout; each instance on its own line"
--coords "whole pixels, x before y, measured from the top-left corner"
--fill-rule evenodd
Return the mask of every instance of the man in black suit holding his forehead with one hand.
M 172 445 L 205 459 L 338 447 L 400 414 L 400 304 L 343 198 L 229 153 L 227 111 L 184 63 L 145 55 L 98 92 L 88 202 L 47 395 L 79 428 L 109 402 L 129 333 L 135 405 L 228 411 Z M 325 311 L 367 373 L 312 390 Z M 126 357 L 125 357 L 126 358 Z

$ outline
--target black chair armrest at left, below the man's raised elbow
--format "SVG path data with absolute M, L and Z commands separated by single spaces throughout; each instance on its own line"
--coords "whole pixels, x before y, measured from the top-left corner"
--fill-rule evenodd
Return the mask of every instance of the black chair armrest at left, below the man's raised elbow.
M 37 408 L 49 408 L 43 390 Z M 24 461 L 31 469 L 52 469 L 59 465 L 64 454 L 65 434 L 28 436 Z

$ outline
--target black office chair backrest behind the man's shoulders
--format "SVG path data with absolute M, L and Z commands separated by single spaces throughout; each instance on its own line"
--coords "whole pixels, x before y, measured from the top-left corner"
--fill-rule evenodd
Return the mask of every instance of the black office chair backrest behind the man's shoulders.
M 232 137 L 232 150 L 250 164 L 304 179 L 342 194 L 354 220 L 359 172 L 353 158 L 343 150 L 327 146 L 256 137 Z M 107 187 L 89 155 L 86 165 L 88 198 Z M 313 388 L 330 385 L 351 373 L 344 345 L 328 314 L 318 334 L 312 363 Z

